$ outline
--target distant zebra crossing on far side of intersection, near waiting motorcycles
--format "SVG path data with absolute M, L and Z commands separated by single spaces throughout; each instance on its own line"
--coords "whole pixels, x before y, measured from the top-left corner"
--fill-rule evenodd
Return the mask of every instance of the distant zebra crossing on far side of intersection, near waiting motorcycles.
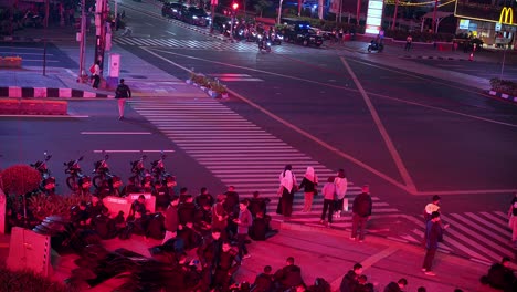
M 210 51 L 236 51 L 236 52 L 258 52 L 257 45 L 254 42 L 225 42 L 221 40 L 178 40 L 178 39 L 152 39 L 152 38 L 133 38 L 133 36 L 116 36 L 113 42 L 122 45 L 137 46 L 159 46 L 172 49 L 188 50 L 210 50 Z M 305 48 L 300 45 L 273 45 L 274 53 L 313 53 L 326 52 L 323 49 Z

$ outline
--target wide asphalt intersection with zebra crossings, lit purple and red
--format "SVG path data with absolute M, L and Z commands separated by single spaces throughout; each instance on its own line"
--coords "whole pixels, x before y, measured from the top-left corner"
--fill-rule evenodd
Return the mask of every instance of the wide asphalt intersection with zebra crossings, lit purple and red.
M 85 155 L 82 166 L 89 173 L 101 152 L 109 150 L 112 171 L 126 181 L 128 163 L 140 150 L 148 161 L 167 150 L 167 168 L 180 187 L 191 194 L 208 187 L 217 195 L 233 185 L 242 197 L 260 190 L 272 198 L 272 215 L 286 164 L 298 182 L 307 166 L 320 182 L 345 168 L 350 204 L 361 185 L 370 185 L 370 233 L 420 244 L 423 207 L 440 195 L 452 226 L 441 251 L 482 262 L 514 255 L 506 212 L 517 191 L 517 107 L 464 82 L 498 76 L 499 61 L 404 60 L 285 43 L 267 54 L 255 43 L 222 41 L 199 33 L 205 29 L 165 20 L 158 6 L 124 0 L 123 9 L 131 32 L 117 32 L 117 46 L 179 80 L 189 70 L 218 77 L 230 98 L 172 93 L 133 98 L 123 122 L 115 101 L 70 101 L 70 112 L 81 117 L 2 117 L 0 135 L 14 142 L 2 146 L 2 166 L 33 163 L 48 150 L 63 191 L 63 161 Z M 65 49 L 60 66 L 75 69 Z M 516 79 L 517 71 L 508 65 L 504 74 Z M 150 87 L 162 81 L 145 70 L 127 77 Z M 320 226 L 321 202 L 315 198 L 313 212 L 303 213 L 297 194 L 292 221 Z M 347 213 L 334 228 L 350 226 Z

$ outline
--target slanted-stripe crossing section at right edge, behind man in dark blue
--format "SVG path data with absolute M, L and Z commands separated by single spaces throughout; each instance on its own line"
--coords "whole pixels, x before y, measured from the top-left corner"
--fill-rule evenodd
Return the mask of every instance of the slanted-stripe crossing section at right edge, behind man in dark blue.
M 511 230 L 500 217 L 502 212 L 442 213 L 442 219 L 451 227 L 444 231 L 440 249 L 485 262 L 498 262 L 503 257 L 514 257 Z M 412 234 L 400 234 L 401 239 L 416 243 L 423 242 L 425 227 L 422 218 L 419 229 Z M 410 237 L 415 236 L 413 240 Z M 416 242 L 414 241 L 416 239 Z

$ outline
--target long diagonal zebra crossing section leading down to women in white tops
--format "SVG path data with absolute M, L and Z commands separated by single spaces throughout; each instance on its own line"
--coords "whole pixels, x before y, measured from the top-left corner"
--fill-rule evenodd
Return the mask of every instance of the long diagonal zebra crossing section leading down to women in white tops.
M 130 104 L 223 184 L 235 186 L 243 198 L 251 197 L 255 190 L 272 198 L 270 210 L 278 202 L 278 175 L 286 164 L 293 165 L 294 173 L 299 176 L 298 182 L 307 166 L 315 168 L 320 181 L 336 174 L 214 100 L 131 100 Z M 360 191 L 349 184 L 350 204 Z M 318 223 L 321 196 L 315 197 L 310 213 L 302 212 L 303 196 L 302 192 L 295 196 L 293 220 Z M 400 213 L 378 197 L 372 199 L 374 217 Z M 274 211 L 270 215 L 277 216 Z M 349 216 L 337 218 L 336 228 L 348 228 L 350 222 Z

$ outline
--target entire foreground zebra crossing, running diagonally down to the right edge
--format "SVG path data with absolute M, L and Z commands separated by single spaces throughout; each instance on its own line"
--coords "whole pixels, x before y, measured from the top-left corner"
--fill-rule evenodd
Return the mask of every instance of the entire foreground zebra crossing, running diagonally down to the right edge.
M 226 186 L 235 186 L 242 198 L 252 197 L 256 190 L 262 197 L 270 198 L 268 213 L 273 219 L 279 219 L 275 213 L 278 202 L 276 191 L 278 175 L 286 164 L 293 165 L 298 182 L 307 166 L 315 168 L 320 181 L 336 173 L 213 98 L 146 98 L 131 100 L 129 104 L 214 177 Z M 360 187 L 349 182 L 349 206 L 360 191 Z M 303 196 L 303 192 L 295 196 L 291 221 L 321 227 L 321 196 L 314 198 L 312 212 L 302 212 Z M 422 218 L 404 215 L 379 197 L 372 196 L 372 200 L 374 212 L 371 221 L 400 218 L 409 221 L 403 229 L 392 230 L 397 234 L 388 238 L 422 243 Z M 451 228 L 445 231 L 444 242 L 440 244 L 443 252 L 483 262 L 499 261 L 502 257 L 514 254 L 509 244 L 511 234 L 503 212 L 444 213 L 442 218 L 451 223 Z M 350 230 L 350 212 L 336 218 L 333 228 Z M 372 228 L 369 231 L 374 232 Z

